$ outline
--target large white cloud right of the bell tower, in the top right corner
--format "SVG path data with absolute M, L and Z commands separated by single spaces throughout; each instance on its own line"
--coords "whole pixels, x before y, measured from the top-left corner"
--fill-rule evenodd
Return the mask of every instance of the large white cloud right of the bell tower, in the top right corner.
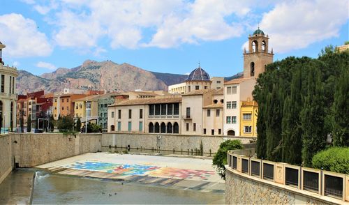
M 285 1 L 265 13 L 260 28 L 270 36 L 274 52 L 298 50 L 339 36 L 348 21 L 348 1 Z

